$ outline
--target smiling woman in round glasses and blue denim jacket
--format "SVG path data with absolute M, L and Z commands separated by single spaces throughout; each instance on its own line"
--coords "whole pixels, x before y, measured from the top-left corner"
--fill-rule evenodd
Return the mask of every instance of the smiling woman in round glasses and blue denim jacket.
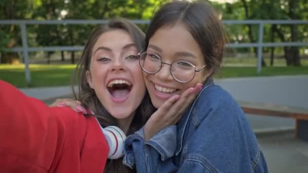
M 159 108 L 196 83 L 203 89 L 169 129 L 174 138 L 164 136 L 165 129 L 157 138 L 142 129 L 129 136 L 126 165 L 136 164 L 138 172 L 267 172 L 244 112 L 212 79 L 225 42 L 222 23 L 206 3 L 175 1 L 155 14 L 139 54 L 152 104 Z

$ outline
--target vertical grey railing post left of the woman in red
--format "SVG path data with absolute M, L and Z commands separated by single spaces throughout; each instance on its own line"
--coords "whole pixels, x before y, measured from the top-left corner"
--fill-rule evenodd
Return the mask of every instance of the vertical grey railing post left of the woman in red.
M 23 56 L 24 56 L 24 61 L 25 61 L 26 81 L 27 81 L 27 84 L 30 84 L 31 75 L 30 75 L 30 70 L 29 70 L 29 54 L 28 54 L 28 39 L 27 39 L 26 24 L 21 23 L 20 29 L 21 29 L 22 51 L 23 51 Z

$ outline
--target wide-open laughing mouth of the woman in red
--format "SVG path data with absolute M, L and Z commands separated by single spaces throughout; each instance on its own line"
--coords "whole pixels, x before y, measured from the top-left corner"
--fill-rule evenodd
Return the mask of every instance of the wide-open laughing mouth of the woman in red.
M 114 99 L 125 99 L 132 90 L 132 84 L 127 80 L 112 80 L 107 85 L 107 90 Z

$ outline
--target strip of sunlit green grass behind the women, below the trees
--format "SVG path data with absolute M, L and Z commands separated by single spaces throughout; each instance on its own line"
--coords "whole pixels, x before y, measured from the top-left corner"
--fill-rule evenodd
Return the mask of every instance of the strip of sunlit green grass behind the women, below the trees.
M 0 79 L 8 81 L 18 88 L 38 86 L 69 85 L 75 65 L 30 65 L 31 83 L 25 81 L 24 65 L 0 64 Z M 248 77 L 248 76 L 274 76 L 308 74 L 308 66 L 301 67 L 263 67 L 257 74 L 256 67 L 229 67 L 225 66 L 216 75 L 219 78 Z

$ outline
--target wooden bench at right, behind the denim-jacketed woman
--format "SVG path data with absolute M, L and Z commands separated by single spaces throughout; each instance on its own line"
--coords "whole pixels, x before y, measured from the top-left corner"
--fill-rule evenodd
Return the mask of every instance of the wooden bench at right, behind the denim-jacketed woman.
M 272 103 L 238 101 L 243 111 L 249 114 L 294 118 L 295 137 L 308 141 L 308 109 Z M 308 103 L 308 102 L 307 102 Z

